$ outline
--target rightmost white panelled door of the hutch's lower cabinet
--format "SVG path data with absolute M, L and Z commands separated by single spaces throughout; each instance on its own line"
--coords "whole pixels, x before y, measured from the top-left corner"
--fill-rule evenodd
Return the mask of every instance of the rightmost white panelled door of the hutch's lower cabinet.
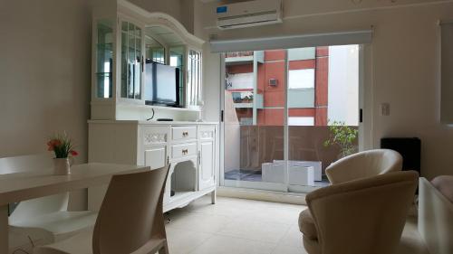
M 198 185 L 203 190 L 216 184 L 215 181 L 215 127 L 200 127 Z

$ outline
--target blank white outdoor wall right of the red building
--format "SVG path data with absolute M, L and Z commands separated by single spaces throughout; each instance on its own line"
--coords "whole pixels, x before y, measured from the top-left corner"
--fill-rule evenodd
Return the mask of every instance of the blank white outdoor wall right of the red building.
M 359 45 L 329 47 L 327 118 L 359 125 Z

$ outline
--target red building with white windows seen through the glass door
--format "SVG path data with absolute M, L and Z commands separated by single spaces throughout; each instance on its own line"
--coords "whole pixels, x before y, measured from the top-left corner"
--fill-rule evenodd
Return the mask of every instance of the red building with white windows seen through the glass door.
M 284 50 L 226 54 L 226 90 L 232 93 L 242 124 L 284 124 L 284 54 Z M 326 126 L 329 47 L 288 50 L 288 61 L 289 125 Z

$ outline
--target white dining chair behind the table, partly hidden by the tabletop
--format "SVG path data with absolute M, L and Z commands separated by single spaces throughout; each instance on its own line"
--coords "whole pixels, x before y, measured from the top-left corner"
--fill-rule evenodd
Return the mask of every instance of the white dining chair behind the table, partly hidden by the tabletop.
M 53 168 L 49 154 L 0 158 L 0 175 L 41 174 Z M 60 193 L 15 204 L 8 218 L 10 252 L 31 251 L 34 245 L 49 244 L 71 237 L 94 225 L 97 212 L 68 211 L 70 193 Z

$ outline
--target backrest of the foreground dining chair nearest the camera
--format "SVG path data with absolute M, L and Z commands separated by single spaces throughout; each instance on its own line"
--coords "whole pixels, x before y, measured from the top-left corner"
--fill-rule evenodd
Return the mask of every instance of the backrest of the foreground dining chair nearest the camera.
M 169 165 L 113 175 L 94 226 L 93 254 L 131 253 L 151 238 L 165 239 L 164 184 Z

